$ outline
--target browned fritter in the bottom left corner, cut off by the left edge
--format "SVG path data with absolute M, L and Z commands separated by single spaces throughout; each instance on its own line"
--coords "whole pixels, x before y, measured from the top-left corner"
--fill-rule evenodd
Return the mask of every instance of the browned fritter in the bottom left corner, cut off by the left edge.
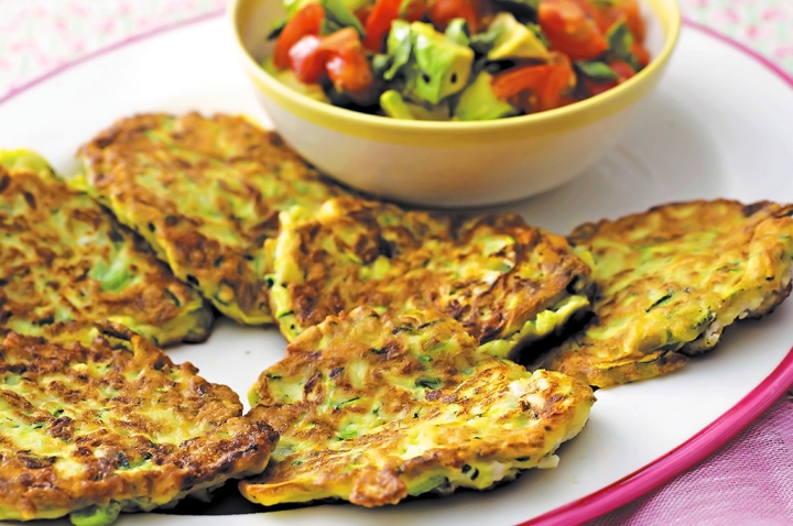
M 124 327 L 61 328 L 0 346 L 0 519 L 101 526 L 264 470 L 278 434 L 230 388 Z

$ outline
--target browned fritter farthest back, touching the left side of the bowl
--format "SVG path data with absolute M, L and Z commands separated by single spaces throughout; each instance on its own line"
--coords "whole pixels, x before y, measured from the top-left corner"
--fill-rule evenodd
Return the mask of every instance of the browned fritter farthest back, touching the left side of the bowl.
M 262 243 L 278 232 L 279 211 L 340 194 L 276 134 L 240 117 L 122 119 L 79 156 L 86 174 L 76 184 L 242 324 L 272 321 Z

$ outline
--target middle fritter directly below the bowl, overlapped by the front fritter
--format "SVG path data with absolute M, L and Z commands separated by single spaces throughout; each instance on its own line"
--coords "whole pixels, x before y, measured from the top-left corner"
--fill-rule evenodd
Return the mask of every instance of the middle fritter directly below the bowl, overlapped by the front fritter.
M 515 215 L 452 216 L 333 199 L 293 209 L 265 243 L 271 307 L 293 340 L 326 316 L 435 309 L 460 321 L 482 350 L 512 355 L 589 308 L 591 269 L 558 235 Z

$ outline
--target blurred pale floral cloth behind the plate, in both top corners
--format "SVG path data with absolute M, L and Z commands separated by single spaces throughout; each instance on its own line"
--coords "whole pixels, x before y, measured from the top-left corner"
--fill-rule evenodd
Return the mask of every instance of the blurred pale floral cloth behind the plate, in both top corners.
M 793 0 L 678 2 L 686 19 L 793 73 Z M 91 52 L 225 6 L 225 0 L 0 0 L 0 97 Z

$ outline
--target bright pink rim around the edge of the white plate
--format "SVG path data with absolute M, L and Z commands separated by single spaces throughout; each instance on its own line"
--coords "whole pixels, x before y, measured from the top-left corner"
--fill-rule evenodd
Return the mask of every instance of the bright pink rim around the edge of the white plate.
M 222 10 L 207 12 L 197 17 L 185 19 L 178 22 L 166 24 L 144 33 L 140 33 L 109 46 L 99 48 L 93 53 L 84 55 L 75 61 L 62 64 L 61 66 L 45 73 L 42 76 L 33 78 L 20 86 L 12 87 L 9 92 L 0 97 L 0 106 L 9 102 L 11 99 L 22 95 L 31 88 L 44 83 L 68 69 L 80 64 L 89 62 L 99 56 L 106 55 L 113 51 L 127 47 L 152 36 L 193 25 L 206 20 L 221 17 Z M 689 29 L 700 31 L 724 44 L 741 52 L 756 62 L 762 64 L 779 78 L 793 88 L 793 77 L 773 64 L 764 56 L 750 50 L 746 45 L 726 36 L 710 28 L 706 28 L 697 22 L 683 19 L 683 24 Z M 700 462 L 709 454 L 717 451 L 721 446 L 727 443 L 732 437 L 743 430 L 749 424 L 758 418 L 765 409 L 768 409 L 782 394 L 793 385 L 793 348 L 787 355 L 774 369 L 774 371 L 763 380 L 760 385 L 754 387 L 747 396 L 738 402 L 732 408 L 718 417 L 703 430 L 694 435 L 691 439 L 683 442 L 675 449 L 655 459 L 649 464 L 640 468 L 628 476 L 591 493 L 583 498 L 560 506 L 539 517 L 521 523 L 521 526 L 555 526 L 580 524 L 590 520 L 608 512 L 611 512 L 634 498 L 659 487 L 669 482 L 677 474 Z

